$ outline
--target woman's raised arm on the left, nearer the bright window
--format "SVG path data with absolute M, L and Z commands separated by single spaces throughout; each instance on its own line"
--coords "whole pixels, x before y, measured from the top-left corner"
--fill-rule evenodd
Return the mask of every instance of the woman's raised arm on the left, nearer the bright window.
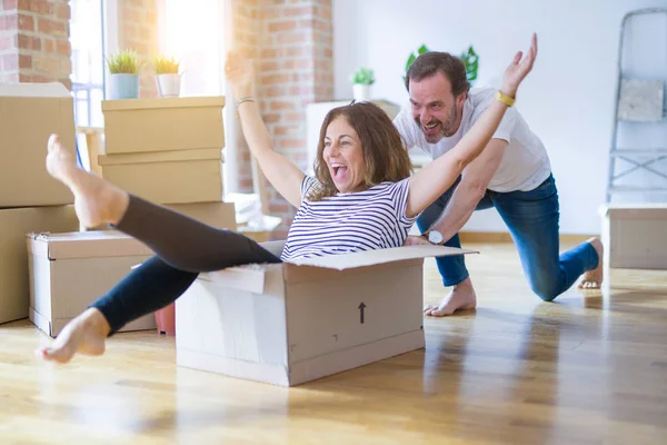
M 299 207 L 301 181 L 306 175 L 285 156 L 273 151 L 273 142 L 261 119 L 259 107 L 252 98 L 255 85 L 252 61 L 231 52 L 227 56 L 225 72 L 238 102 L 241 129 L 248 148 L 276 190 L 289 204 Z

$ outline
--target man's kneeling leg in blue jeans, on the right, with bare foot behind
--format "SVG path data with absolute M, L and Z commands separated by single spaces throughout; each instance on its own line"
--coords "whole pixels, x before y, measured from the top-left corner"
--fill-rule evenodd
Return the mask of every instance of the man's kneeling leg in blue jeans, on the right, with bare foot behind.
M 558 190 L 552 177 L 531 191 L 490 196 L 517 245 L 530 288 L 545 301 L 563 294 L 585 271 L 601 269 L 597 238 L 559 255 Z

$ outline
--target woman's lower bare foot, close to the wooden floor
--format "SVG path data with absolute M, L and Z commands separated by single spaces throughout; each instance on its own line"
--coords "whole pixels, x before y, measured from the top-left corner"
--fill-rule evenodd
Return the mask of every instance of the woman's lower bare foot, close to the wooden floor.
M 77 353 L 104 354 L 104 339 L 111 332 L 107 318 L 98 309 L 90 308 L 62 328 L 53 344 L 37 350 L 44 360 L 68 363 Z

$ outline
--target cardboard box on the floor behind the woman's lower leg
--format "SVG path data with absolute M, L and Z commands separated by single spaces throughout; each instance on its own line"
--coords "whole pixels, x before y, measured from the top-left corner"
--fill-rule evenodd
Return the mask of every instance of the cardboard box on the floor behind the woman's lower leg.
M 142 243 L 119 231 L 32 234 L 28 236 L 28 253 L 30 320 L 52 337 L 133 266 L 155 255 Z M 155 328 L 155 315 L 149 314 L 121 330 Z

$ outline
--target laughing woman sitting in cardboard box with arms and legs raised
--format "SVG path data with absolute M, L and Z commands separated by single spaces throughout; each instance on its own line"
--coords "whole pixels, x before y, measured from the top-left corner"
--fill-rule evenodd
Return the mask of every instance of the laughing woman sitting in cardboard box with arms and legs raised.
M 516 95 L 536 55 L 534 36 L 528 56 L 521 60 L 517 53 L 505 72 L 505 95 Z M 108 336 L 175 301 L 202 271 L 401 246 L 417 216 L 482 151 L 507 109 L 496 101 L 455 149 L 412 177 L 400 137 L 379 108 L 356 103 L 335 109 L 322 125 L 316 178 L 308 178 L 272 150 L 250 95 L 250 61 L 230 55 L 226 72 L 252 155 L 278 192 L 299 208 L 281 257 L 240 234 L 211 228 L 79 169 L 52 135 L 47 169 L 72 191 L 79 220 L 87 227 L 108 222 L 157 255 L 71 320 L 50 347 L 39 349 L 42 358 L 67 363 L 76 353 L 102 354 Z

